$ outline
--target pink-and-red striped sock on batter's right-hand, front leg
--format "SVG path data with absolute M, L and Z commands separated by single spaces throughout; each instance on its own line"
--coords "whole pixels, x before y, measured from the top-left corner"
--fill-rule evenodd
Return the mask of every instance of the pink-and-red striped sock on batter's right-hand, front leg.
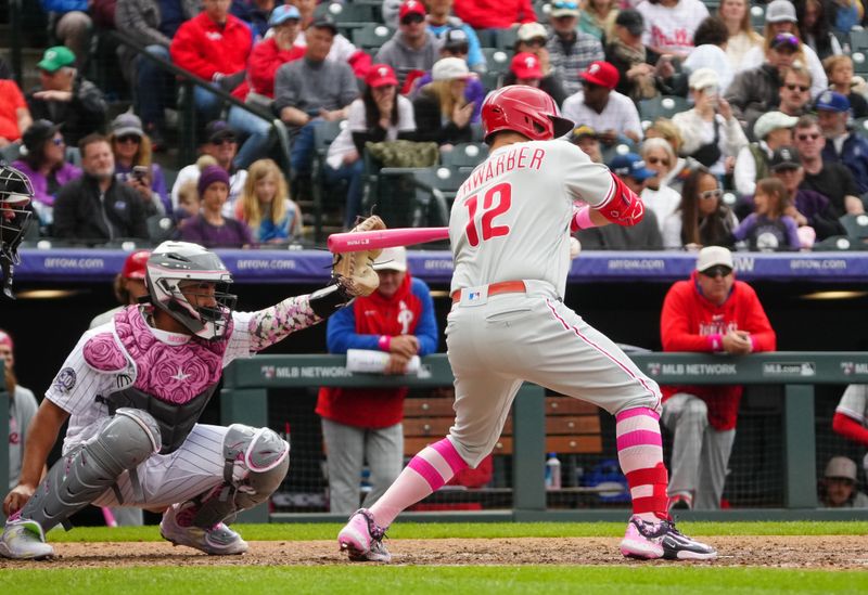
M 663 465 L 660 415 L 637 408 L 622 411 L 615 419 L 617 458 L 630 487 L 633 514 L 650 521 L 668 518 L 669 479 Z

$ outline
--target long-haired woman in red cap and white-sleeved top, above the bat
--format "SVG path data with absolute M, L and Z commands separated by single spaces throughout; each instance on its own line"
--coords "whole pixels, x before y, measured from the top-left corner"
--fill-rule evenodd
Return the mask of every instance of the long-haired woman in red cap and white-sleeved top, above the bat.
M 326 157 L 326 176 L 332 182 L 345 179 L 349 184 L 345 229 L 361 215 L 365 143 L 409 139 L 416 131 L 413 106 L 398 94 L 398 79 L 390 65 L 372 65 L 365 82 L 365 93 L 349 105 L 347 126 L 329 145 Z

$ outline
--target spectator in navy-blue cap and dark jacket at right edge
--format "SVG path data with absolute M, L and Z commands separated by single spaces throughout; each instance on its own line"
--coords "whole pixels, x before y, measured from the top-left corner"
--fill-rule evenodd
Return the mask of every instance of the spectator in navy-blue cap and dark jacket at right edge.
M 847 130 L 850 100 L 835 91 L 824 91 L 814 109 L 827 141 L 822 160 L 847 166 L 856 179 L 859 194 L 868 192 L 868 141 L 858 132 Z

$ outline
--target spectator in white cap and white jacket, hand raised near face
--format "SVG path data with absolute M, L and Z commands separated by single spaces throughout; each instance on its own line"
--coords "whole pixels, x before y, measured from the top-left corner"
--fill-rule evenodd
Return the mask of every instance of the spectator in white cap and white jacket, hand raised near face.
M 748 138 L 732 115 L 729 103 L 720 96 L 720 79 L 711 68 L 690 74 L 693 108 L 672 118 L 681 131 L 681 154 L 692 157 L 715 176 L 729 173 L 738 153 L 748 146 Z

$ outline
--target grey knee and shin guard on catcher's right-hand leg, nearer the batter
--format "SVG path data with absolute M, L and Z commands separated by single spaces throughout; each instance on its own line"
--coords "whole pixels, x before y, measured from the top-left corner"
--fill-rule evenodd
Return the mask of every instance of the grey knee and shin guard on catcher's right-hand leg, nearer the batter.
M 213 527 L 268 500 L 290 469 L 290 444 L 269 428 L 232 424 L 224 439 L 224 483 L 208 492 L 193 518 Z

